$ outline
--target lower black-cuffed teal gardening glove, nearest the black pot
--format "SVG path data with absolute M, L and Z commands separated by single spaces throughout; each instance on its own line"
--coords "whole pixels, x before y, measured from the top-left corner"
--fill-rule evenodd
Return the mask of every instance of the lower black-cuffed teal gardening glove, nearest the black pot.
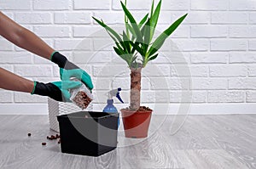
M 34 82 L 32 94 L 49 96 L 49 98 L 55 99 L 56 101 L 71 102 L 68 89 L 81 87 L 81 85 L 81 82 L 74 81 L 49 82 L 46 84 L 43 82 Z

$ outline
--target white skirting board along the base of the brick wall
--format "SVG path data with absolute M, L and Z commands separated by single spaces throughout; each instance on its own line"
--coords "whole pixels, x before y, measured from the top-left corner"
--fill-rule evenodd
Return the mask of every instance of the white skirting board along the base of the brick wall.
M 106 104 L 93 104 L 103 110 Z M 126 104 L 116 104 L 118 110 Z M 256 104 L 148 104 L 154 115 L 231 115 L 256 114 Z M 0 104 L 0 115 L 48 115 L 47 104 Z

